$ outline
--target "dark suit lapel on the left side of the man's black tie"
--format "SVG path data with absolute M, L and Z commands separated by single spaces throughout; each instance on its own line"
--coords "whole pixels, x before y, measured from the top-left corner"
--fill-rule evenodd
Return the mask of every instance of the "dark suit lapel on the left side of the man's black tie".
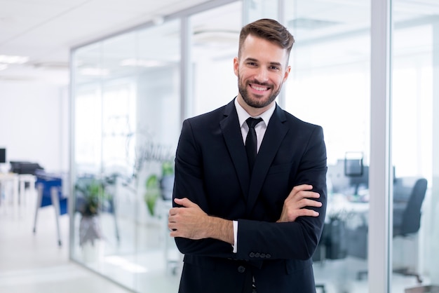
M 246 197 L 250 185 L 250 172 L 248 171 L 247 155 L 245 154 L 241 127 L 239 125 L 234 100 L 226 105 L 224 118 L 222 121 L 219 121 L 219 127 L 222 130 L 227 149 L 229 149 L 231 160 L 234 163 L 236 174 L 241 184 L 241 190 Z M 227 182 L 224 183 L 227 184 Z

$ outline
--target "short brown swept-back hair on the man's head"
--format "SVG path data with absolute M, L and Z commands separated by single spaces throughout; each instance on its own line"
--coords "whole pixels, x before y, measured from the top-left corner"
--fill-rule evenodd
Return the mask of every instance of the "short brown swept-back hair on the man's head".
M 288 29 L 276 20 L 270 20 L 268 18 L 256 20 L 255 22 L 245 25 L 241 29 L 241 34 L 239 35 L 238 57 L 241 56 L 241 48 L 249 34 L 287 49 L 288 56 L 290 56 L 292 45 L 295 42 L 294 37 L 288 32 Z

